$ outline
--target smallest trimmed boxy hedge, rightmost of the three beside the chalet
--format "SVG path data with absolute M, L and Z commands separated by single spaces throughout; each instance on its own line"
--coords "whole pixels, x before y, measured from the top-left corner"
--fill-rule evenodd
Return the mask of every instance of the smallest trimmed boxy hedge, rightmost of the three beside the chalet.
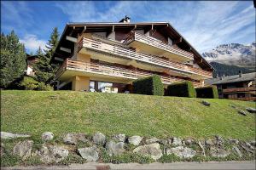
M 198 98 L 218 99 L 218 90 L 216 86 L 195 88 Z

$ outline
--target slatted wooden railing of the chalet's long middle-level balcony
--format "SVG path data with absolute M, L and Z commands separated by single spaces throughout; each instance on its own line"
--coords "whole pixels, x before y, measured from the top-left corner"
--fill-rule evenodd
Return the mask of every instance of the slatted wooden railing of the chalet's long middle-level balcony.
M 154 55 L 137 53 L 135 50 L 131 48 L 125 48 L 119 45 L 108 44 L 98 40 L 92 40 L 86 37 L 83 37 L 82 40 L 79 42 L 79 50 L 83 47 L 88 48 L 90 50 L 99 51 L 102 53 L 114 54 L 128 59 L 135 59 L 137 61 L 142 61 L 152 65 L 163 66 L 168 69 L 172 69 L 183 73 L 187 72 L 189 74 L 197 74 L 204 77 L 212 77 L 212 72 L 210 71 L 204 71 L 202 69 L 194 68 L 189 65 L 183 65 L 181 63 L 173 62 L 169 59 L 164 59 L 162 57 Z

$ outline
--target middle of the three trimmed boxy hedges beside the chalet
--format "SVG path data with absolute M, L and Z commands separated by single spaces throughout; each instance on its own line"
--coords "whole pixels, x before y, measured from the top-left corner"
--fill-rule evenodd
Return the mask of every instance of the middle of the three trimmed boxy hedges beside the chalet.
M 196 92 L 192 82 L 177 82 L 170 84 L 166 90 L 167 96 L 195 98 Z

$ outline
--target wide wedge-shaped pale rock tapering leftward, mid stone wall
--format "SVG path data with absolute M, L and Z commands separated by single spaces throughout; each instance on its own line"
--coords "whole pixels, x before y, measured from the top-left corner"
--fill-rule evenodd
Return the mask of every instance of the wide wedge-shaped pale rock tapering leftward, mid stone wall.
M 133 150 L 133 153 L 141 154 L 143 156 L 150 156 L 154 160 L 160 159 L 163 155 L 160 149 L 160 144 L 144 144 Z

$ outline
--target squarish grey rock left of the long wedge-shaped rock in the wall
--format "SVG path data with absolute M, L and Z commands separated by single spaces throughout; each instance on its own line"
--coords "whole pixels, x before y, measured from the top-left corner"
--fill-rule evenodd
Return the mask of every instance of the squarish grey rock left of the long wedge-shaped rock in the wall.
M 109 156 L 117 156 L 117 155 L 121 155 L 125 152 L 125 143 L 124 142 L 119 142 L 119 143 L 115 143 L 112 140 L 109 141 L 106 144 L 106 149 L 108 151 L 108 155 Z

